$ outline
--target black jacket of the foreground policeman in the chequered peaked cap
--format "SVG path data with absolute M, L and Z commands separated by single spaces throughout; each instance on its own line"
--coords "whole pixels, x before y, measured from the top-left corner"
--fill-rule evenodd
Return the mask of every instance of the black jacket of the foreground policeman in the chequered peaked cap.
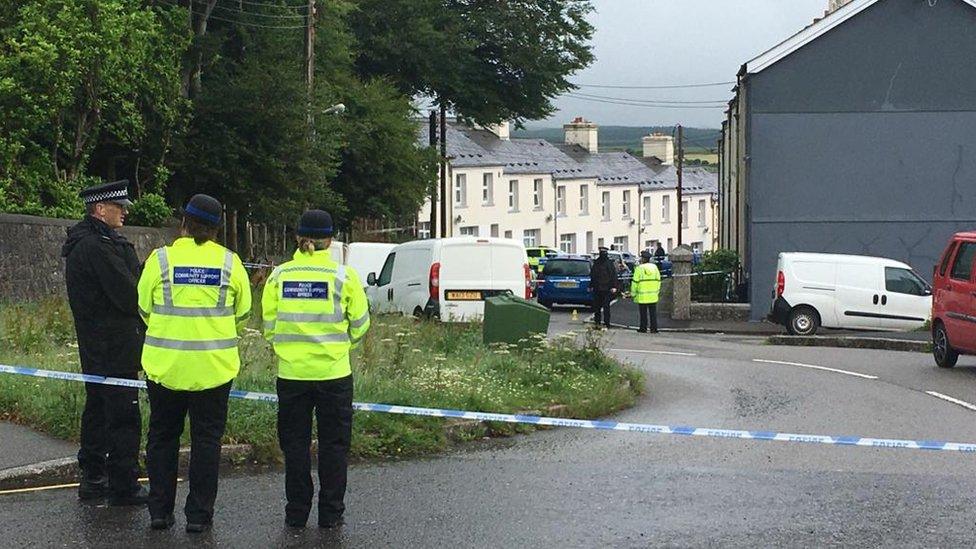
M 112 375 L 142 369 L 145 325 L 138 312 L 135 248 L 105 223 L 85 217 L 68 229 L 61 256 L 81 370 Z

